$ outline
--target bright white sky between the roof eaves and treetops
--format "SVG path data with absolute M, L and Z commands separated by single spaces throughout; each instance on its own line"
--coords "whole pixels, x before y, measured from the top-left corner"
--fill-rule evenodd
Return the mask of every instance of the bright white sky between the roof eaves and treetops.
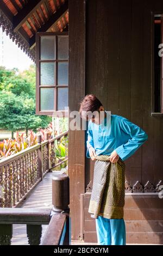
M 12 42 L 12 39 L 0 28 L 0 66 L 24 70 L 28 69 L 31 64 L 34 63 L 27 54 L 18 48 L 15 42 Z

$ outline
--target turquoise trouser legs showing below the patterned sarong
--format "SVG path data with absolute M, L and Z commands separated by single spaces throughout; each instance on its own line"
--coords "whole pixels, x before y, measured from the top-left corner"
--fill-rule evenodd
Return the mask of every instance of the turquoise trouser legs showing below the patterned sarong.
M 98 245 L 126 245 L 126 227 L 124 219 L 96 218 Z

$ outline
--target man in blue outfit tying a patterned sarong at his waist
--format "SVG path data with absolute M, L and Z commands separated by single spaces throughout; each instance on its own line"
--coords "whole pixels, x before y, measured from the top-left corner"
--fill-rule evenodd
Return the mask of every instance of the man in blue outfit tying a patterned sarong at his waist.
M 120 115 L 107 117 L 93 94 L 80 102 L 79 113 L 89 121 L 86 156 L 96 160 L 89 212 L 96 218 L 98 245 L 126 245 L 123 161 L 147 141 L 147 133 Z

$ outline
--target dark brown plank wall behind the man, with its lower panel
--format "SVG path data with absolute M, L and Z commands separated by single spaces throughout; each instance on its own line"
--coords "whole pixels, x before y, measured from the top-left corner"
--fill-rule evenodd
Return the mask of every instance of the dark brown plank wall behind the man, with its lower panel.
M 163 180 L 161 166 L 163 117 L 151 116 L 153 112 L 152 11 L 163 13 L 163 2 L 161 0 L 86 1 L 85 94 L 96 94 L 106 110 L 128 118 L 148 134 L 148 141 L 126 161 L 126 180 L 131 186 L 137 180 L 143 186 L 148 180 L 154 186 Z M 93 165 L 92 161 L 86 159 L 85 187 L 92 180 Z M 142 234 L 140 231 L 136 235 L 130 233 L 130 236 L 127 236 L 128 242 L 163 243 L 161 226 L 163 201 L 156 194 L 154 198 L 151 197 L 151 209 L 148 206 L 143 210 L 142 203 L 145 200 L 143 194 L 140 195 L 140 200 L 136 200 L 135 197 L 129 199 L 126 196 L 127 232 L 128 234 L 134 232 L 134 228 L 135 230 L 140 228 L 143 232 Z M 94 221 L 89 219 L 87 214 L 85 205 L 88 202 L 89 196 L 86 193 L 83 198 L 85 242 L 90 239 L 92 241 L 91 232 L 95 229 Z M 132 216 L 129 214 L 130 209 L 135 209 L 133 212 L 137 212 L 137 217 L 133 214 L 130 219 Z M 142 220 L 146 222 L 138 225 Z

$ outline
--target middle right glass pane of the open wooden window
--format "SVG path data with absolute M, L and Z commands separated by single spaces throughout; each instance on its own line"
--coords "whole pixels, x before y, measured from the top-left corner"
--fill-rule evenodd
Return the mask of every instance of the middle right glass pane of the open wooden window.
M 58 84 L 68 84 L 68 62 L 58 62 Z

